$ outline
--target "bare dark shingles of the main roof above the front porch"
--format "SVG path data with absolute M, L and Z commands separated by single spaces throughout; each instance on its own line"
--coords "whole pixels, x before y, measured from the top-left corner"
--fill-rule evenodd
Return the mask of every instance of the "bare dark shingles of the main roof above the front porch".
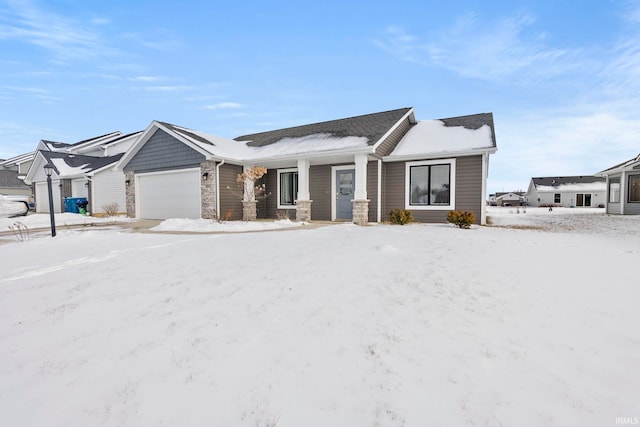
M 364 137 L 367 145 L 375 145 L 411 108 L 365 114 L 345 119 L 295 126 L 268 132 L 242 135 L 236 141 L 246 141 L 250 147 L 263 147 L 285 138 L 305 138 L 312 135 L 328 135 L 334 138 Z

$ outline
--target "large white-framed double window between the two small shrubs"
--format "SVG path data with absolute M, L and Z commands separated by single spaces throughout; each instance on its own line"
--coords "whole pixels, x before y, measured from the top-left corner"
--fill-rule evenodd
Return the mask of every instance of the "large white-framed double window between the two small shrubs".
M 455 159 L 407 163 L 407 209 L 455 209 Z

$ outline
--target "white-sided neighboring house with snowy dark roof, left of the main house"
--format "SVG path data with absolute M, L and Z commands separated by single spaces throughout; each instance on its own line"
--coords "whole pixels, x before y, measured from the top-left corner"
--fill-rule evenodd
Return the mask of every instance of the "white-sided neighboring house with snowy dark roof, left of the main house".
M 87 198 L 88 211 L 96 215 L 104 214 L 104 207 L 114 203 L 124 212 L 124 175 L 113 167 L 141 133 L 112 132 L 74 144 L 40 141 L 25 177 L 34 185 L 36 212 L 49 212 L 47 164 L 53 166 L 54 212 L 64 212 L 67 197 Z

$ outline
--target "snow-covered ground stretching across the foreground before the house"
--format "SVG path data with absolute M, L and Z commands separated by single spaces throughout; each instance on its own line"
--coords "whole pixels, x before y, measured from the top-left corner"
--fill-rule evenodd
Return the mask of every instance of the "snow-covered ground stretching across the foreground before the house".
M 68 228 L 0 245 L 1 424 L 640 417 L 640 217 L 509 209 L 490 216 L 515 228 Z

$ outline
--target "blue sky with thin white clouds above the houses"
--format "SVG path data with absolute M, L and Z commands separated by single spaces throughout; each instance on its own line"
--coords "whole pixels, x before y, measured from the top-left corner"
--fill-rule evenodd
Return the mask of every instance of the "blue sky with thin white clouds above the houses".
M 380 4 L 377 4 L 380 3 Z M 640 153 L 624 0 L 0 0 L 0 158 L 162 120 L 224 137 L 493 112 L 489 192 Z

